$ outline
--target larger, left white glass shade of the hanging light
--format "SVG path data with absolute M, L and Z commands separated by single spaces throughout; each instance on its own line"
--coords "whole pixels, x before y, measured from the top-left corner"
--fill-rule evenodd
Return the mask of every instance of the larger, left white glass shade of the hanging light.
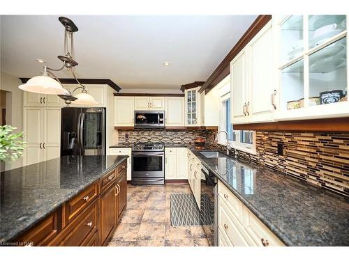
M 58 81 L 51 77 L 40 75 L 33 77 L 26 84 L 18 86 L 21 90 L 31 93 L 60 95 L 66 93 L 66 89 Z

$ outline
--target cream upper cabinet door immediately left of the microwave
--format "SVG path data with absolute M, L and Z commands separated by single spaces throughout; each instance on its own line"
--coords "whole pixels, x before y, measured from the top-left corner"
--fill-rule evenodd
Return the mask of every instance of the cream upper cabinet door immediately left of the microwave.
M 135 124 L 134 97 L 114 97 L 114 126 L 133 127 Z

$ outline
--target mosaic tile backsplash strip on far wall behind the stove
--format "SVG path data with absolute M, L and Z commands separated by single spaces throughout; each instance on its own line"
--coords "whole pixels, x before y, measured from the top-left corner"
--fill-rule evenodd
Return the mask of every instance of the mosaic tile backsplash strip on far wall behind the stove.
M 196 138 L 206 139 L 205 129 L 134 129 L 119 130 L 119 143 L 163 142 L 163 143 L 194 143 Z M 126 139 L 126 134 L 128 139 Z

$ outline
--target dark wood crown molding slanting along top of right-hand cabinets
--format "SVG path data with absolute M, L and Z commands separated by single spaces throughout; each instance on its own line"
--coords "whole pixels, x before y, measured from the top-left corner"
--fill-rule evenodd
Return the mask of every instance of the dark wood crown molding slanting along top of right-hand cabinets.
M 202 93 L 205 90 L 205 94 L 208 93 L 214 86 L 216 86 L 221 80 L 228 76 L 230 73 L 230 61 L 232 61 L 237 54 L 252 40 L 252 38 L 260 31 L 260 29 L 272 19 L 272 15 L 259 15 L 253 24 L 242 35 L 242 38 L 237 44 L 232 47 L 227 56 L 221 61 L 216 70 L 212 72 L 211 76 L 205 81 L 205 84 L 199 90 Z

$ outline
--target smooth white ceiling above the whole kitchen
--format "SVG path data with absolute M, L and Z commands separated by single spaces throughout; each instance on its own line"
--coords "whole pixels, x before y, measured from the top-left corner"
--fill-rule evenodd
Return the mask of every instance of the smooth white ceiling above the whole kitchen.
M 1 16 L 1 71 L 16 77 L 40 74 L 43 58 L 61 67 L 64 27 L 59 15 Z M 178 90 L 206 81 L 256 15 L 70 15 L 79 78 L 112 79 L 122 89 Z M 163 66 L 170 61 L 170 66 Z M 67 72 L 59 77 L 70 78 Z

